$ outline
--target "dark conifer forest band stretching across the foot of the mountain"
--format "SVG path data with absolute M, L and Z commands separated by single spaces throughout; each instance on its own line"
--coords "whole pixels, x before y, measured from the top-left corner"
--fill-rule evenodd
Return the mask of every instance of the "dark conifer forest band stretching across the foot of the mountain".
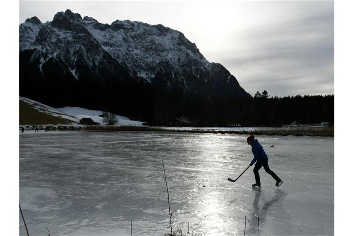
M 22 59 L 25 57 L 22 54 Z M 29 57 L 29 55 L 27 55 Z M 21 59 L 20 58 L 20 59 Z M 23 59 L 24 60 L 24 59 Z M 52 62 L 55 63 L 55 62 Z M 23 63 L 22 63 L 23 64 Z M 76 80 L 58 65 L 38 69 L 23 64 L 20 96 L 51 107 L 82 107 L 127 117 L 141 117 L 155 125 L 178 125 L 176 118 L 188 117 L 193 126 L 280 126 L 334 122 L 334 95 L 269 97 L 267 91 L 250 98 L 207 96 L 153 87 L 144 80 L 108 78 L 100 81 L 86 76 Z M 29 73 L 28 71 L 32 71 Z M 181 124 L 185 125 L 185 124 Z

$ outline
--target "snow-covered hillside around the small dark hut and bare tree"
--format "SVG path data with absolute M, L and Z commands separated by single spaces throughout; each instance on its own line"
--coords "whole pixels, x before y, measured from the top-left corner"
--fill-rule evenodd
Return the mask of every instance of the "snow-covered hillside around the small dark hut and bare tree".
M 53 116 L 58 116 L 64 119 L 72 120 L 72 125 L 79 125 L 79 121 L 82 118 L 91 118 L 93 121 L 101 123 L 103 125 L 103 118 L 99 116 L 103 111 L 89 110 L 80 107 L 63 107 L 63 108 L 52 108 L 45 104 L 36 102 L 34 100 L 20 97 L 20 100 L 31 104 L 35 109 Z M 128 117 L 116 115 L 118 123 L 116 125 L 142 125 L 143 122 L 130 120 Z

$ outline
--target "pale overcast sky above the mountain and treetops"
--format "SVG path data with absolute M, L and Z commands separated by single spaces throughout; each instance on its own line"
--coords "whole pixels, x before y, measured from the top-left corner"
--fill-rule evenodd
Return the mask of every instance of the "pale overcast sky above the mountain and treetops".
M 181 31 L 252 96 L 334 93 L 333 1 L 20 1 L 20 19 L 70 9 L 100 23 L 141 21 Z

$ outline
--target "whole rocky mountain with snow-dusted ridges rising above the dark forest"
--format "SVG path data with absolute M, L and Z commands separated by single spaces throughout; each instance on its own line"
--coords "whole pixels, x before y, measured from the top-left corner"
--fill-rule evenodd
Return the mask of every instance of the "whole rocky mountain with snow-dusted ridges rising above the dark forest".
M 135 80 L 206 96 L 250 97 L 221 64 L 208 62 L 181 32 L 161 24 L 101 24 L 66 10 L 51 22 L 29 18 L 19 30 L 23 96 L 33 97 L 25 91 L 33 84 L 104 90 L 115 80 Z

